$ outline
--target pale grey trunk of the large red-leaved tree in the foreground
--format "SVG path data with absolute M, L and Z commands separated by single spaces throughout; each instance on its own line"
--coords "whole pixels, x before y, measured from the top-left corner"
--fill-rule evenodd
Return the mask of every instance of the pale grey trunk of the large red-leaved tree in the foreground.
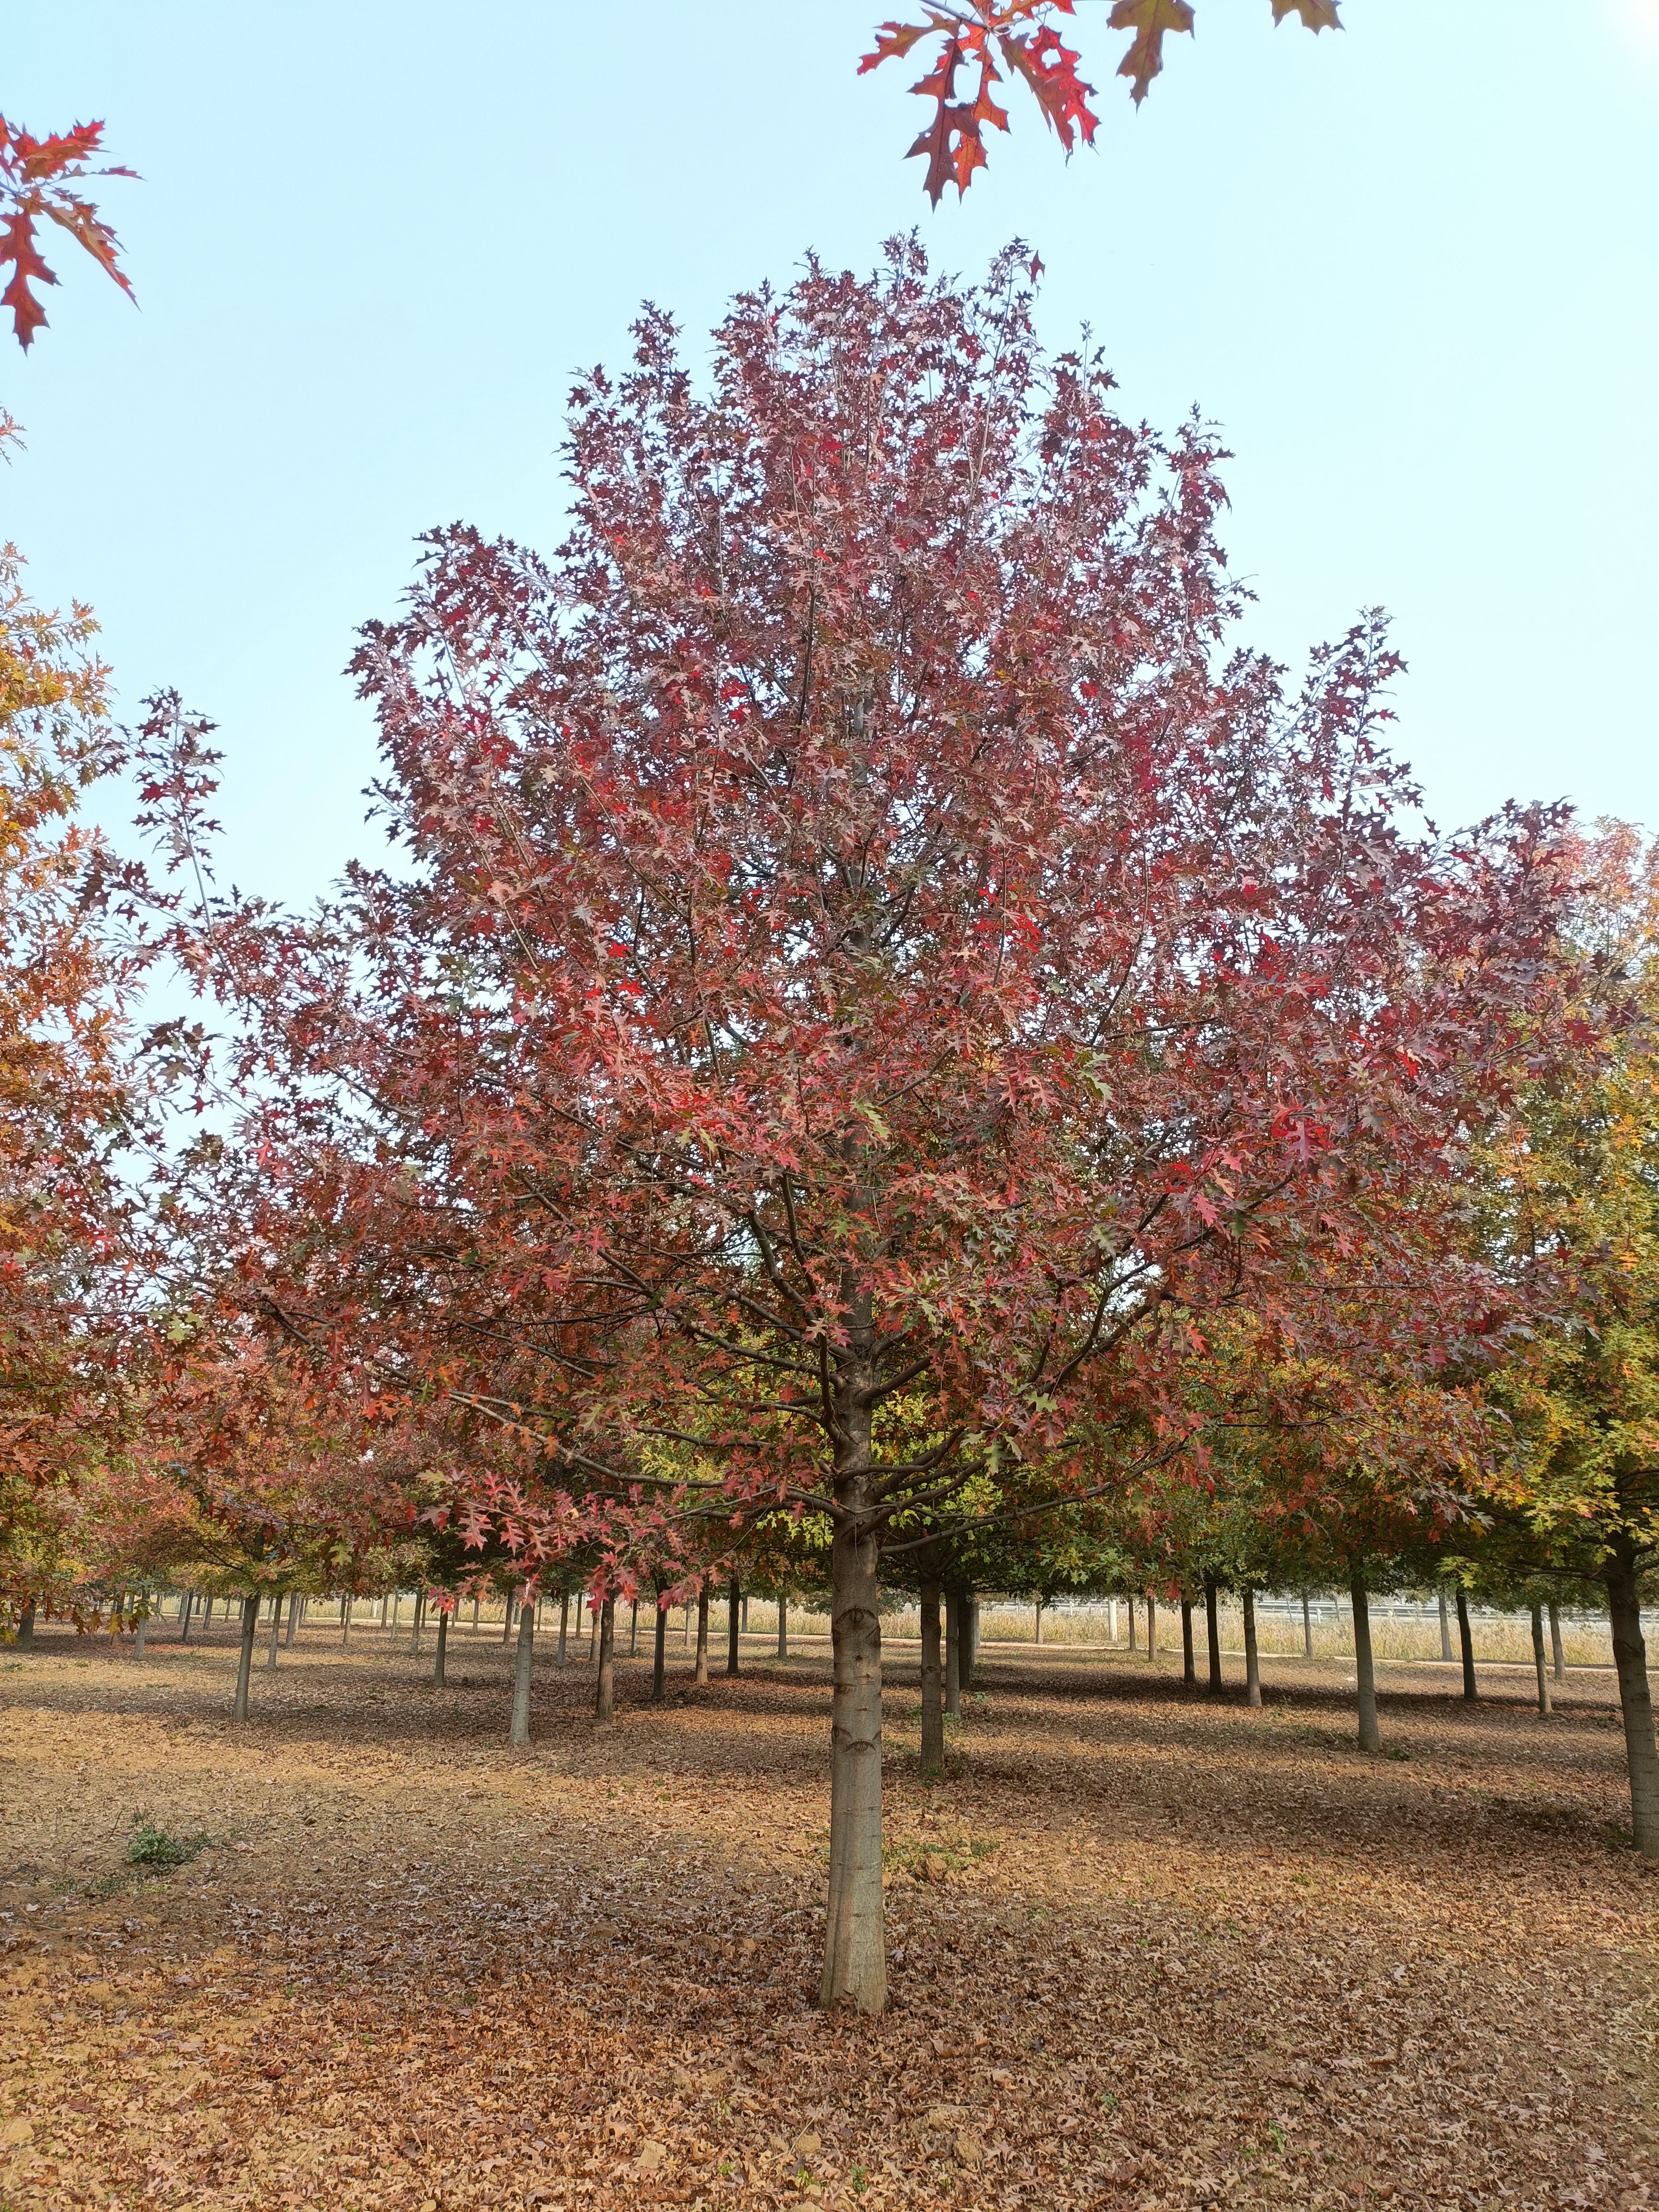
M 876 1586 L 876 1478 L 869 1469 L 869 1301 L 849 1316 L 854 1356 L 838 1391 L 834 1584 L 834 1747 L 830 1761 L 830 1913 L 823 1984 L 827 2008 L 887 2006 L 887 1940 L 880 1896 L 880 1593 Z

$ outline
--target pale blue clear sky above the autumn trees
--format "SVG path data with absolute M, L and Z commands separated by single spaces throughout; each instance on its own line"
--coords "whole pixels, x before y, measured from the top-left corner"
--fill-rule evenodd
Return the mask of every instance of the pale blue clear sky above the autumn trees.
M 1234 447 L 1225 542 L 1301 659 L 1371 602 L 1411 661 L 1431 810 L 1571 794 L 1659 825 L 1659 0 L 1345 0 L 1349 29 L 1203 0 L 1139 115 L 1082 0 L 1099 150 L 1029 102 L 938 215 L 907 77 L 849 0 L 53 0 L 0 108 L 108 119 L 142 312 L 64 246 L 51 330 L 0 352 L 29 451 L 0 531 L 104 622 L 122 703 L 223 726 L 228 865 L 303 898 L 361 843 L 341 666 L 414 533 L 551 546 L 573 367 L 641 296 L 701 352 L 721 301 L 920 223 L 1011 234 L 1042 321 L 1088 321 L 1124 407 Z

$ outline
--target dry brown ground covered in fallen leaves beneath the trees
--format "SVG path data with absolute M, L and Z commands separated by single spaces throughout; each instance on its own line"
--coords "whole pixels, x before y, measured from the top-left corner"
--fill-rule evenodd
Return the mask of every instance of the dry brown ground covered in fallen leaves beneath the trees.
M 597 1734 L 591 1674 L 0 1652 L 0 2208 L 1648 2205 L 1655 1907 L 1604 1674 L 1265 1712 L 989 1652 L 931 1792 L 889 1690 L 894 2011 L 812 2011 L 823 1650 Z M 133 1880 L 135 1816 L 208 1829 Z

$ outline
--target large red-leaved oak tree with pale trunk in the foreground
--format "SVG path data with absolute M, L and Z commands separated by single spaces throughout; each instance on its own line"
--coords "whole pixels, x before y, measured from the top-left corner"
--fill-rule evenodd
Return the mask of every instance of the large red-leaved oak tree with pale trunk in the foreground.
M 1374 626 L 1301 697 L 1225 650 L 1217 460 L 1042 356 L 1015 252 L 812 265 L 710 389 L 646 314 L 557 560 L 438 533 L 365 635 L 403 865 L 219 920 L 250 1303 L 500 1422 L 518 1542 L 602 1582 L 688 1588 L 710 1482 L 830 1520 L 827 2004 L 887 1986 L 891 1520 L 1177 1449 L 1219 1305 L 1425 1363 L 1491 1325 L 1478 1267 L 1418 1287 L 1551 825 L 1405 834 Z

